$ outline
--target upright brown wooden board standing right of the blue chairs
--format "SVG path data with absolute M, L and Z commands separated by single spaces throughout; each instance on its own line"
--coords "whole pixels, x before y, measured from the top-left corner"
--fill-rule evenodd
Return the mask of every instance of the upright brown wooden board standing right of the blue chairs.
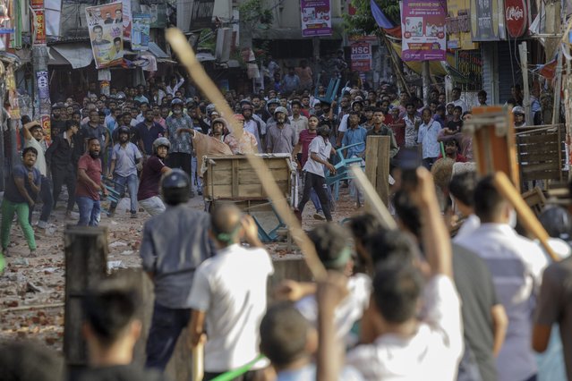
M 389 145 L 388 136 L 368 136 L 365 145 L 365 175 L 386 207 L 389 205 Z

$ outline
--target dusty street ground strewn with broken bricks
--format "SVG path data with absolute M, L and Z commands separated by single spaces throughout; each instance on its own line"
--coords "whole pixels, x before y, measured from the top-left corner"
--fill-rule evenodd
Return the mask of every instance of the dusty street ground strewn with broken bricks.
M 356 213 L 350 202 L 347 189 L 340 191 L 334 220 L 340 222 Z M 64 205 L 60 203 L 59 205 Z M 104 203 L 103 207 L 106 204 Z M 203 201 L 195 197 L 189 206 L 202 209 Z M 38 207 L 36 210 L 38 211 Z M 102 226 L 109 229 L 108 269 L 118 267 L 140 267 L 139 244 L 142 225 L 149 218 L 140 212 L 137 219 L 131 219 L 129 200 L 124 199 L 113 218 L 102 213 Z M 320 223 L 313 219 L 312 202 L 306 205 L 303 216 L 304 230 L 310 230 Z M 77 213 L 73 213 L 78 216 Z M 34 215 L 34 222 L 38 215 Z M 64 218 L 64 207 L 58 207 L 50 218 L 46 235 L 37 235 L 37 258 L 22 257 L 29 250 L 20 227 L 13 223 L 10 253 L 7 267 L 0 275 L 0 339 L 26 338 L 38 340 L 50 348 L 62 350 L 64 337 L 64 229 L 66 224 L 77 220 Z M 300 252 L 288 252 L 285 243 L 270 243 L 269 252 L 275 258 L 300 256 Z

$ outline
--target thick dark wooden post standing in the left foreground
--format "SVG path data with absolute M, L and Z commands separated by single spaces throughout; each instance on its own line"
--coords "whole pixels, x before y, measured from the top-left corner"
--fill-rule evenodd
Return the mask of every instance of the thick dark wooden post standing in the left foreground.
M 107 253 L 107 227 L 66 226 L 64 356 L 71 373 L 88 363 L 81 301 L 106 276 Z

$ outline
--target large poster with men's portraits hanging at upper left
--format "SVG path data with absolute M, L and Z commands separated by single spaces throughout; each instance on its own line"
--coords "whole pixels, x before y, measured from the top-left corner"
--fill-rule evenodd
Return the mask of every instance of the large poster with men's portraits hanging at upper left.
M 85 9 L 91 50 L 98 69 L 115 66 L 124 57 L 123 3 L 90 6 Z

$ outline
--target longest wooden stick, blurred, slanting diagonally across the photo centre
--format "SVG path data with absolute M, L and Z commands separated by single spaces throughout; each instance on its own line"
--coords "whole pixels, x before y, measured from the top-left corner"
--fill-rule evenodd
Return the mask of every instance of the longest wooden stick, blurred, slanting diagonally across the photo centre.
M 243 126 L 235 120 L 233 117 L 234 113 L 226 103 L 225 97 L 223 97 L 213 81 L 210 80 L 209 75 L 204 71 L 201 63 L 197 61 L 197 57 L 194 55 L 183 32 L 176 28 L 170 28 L 166 30 L 166 40 L 173 50 L 175 50 L 179 61 L 184 64 L 192 80 L 194 80 L 199 89 L 201 89 L 205 97 L 209 98 L 209 101 L 217 107 L 219 112 L 226 115 L 226 121 L 231 126 L 236 139 L 240 140 L 243 135 Z M 320 262 L 320 258 L 316 255 L 316 250 L 312 242 L 308 239 L 306 233 L 303 232 L 302 226 L 298 223 L 298 219 L 294 216 L 294 213 L 292 213 L 292 210 L 290 210 L 290 207 L 286 203 L 286 199 L 278 188 L 268 166 L 264 164 L 264 161 L 260 157 L 247 155 L 247 158 L 252 169 L 254 169 L 254 172 L 258 176 L 262 188 L 274 204 L 278 216 L 286 222 L 292 234 L 292 238 L 294 238 L 296 244 L 302 250 L 306 264 L 310 268 L 314 279 L 324 279 L 326 277 L 326 269 Z

